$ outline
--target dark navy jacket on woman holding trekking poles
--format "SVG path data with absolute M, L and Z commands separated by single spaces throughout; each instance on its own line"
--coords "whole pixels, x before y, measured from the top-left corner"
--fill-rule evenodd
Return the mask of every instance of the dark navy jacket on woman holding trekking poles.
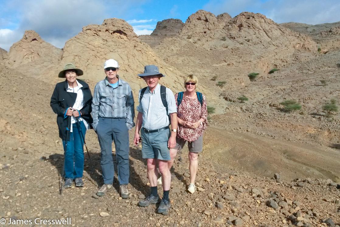
M 91 104 L 92 104 L 92 94 L 88 84 L 84 81 L 77 79 L 77 82 L 81 84 L 83 87 L 81 88 L 84 93 L 84 106 L 80 109 L 81 117 L 89 124 L 92 124 L 91 113 Z M 67 81 L 60 82 L 55 85 L 50 106 L 53 109 L 53 112 L 57 114 L 57 124 L 59 128 L 59 137 L 62 140 L 66 140 L 66 128 L 71 127 L 71 121 L 68 121 L 70 118 L 64 118 L 65 110 L 68 107 L 72 107 L 75 103 L 75 99 L 77 99 L 77 93 L 67 92 L 68 88 Z M 70 140 L 70 136 L 67 138 Z

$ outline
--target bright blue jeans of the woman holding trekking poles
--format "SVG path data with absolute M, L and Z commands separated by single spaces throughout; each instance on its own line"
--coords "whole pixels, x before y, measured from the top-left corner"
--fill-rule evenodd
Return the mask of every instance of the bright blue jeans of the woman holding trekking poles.
M 83 138 L 85 139 L 86 128 L 82 121 L 79 121 Z M 65 178 L 83 177 L 84 170 L 84 141 L 81 137 L 77 123 L 72 124 L 72 132 L 70 140 L 67 142 L 67 150 L 65 153 L 64 169 Z M 63 140 L 65 150 L 65 140 Z

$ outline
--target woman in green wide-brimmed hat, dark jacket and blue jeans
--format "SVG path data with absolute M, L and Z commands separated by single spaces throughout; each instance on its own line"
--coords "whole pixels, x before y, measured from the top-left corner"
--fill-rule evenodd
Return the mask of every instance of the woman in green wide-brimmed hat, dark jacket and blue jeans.
M 83 71 L 77 69 L 74 64 L 66 64 L 58 74 L 58 77 L 66 79 L 56 84 L 50 103 L 57 114 L 59 137 L 64 145 L 65 188 L 72 187 L 73 181 L 77 187 L 84 186 L 83 146 L 86 130 L 92 123 L 92 95 L 88 84 L 77 79 L 81 75 Z

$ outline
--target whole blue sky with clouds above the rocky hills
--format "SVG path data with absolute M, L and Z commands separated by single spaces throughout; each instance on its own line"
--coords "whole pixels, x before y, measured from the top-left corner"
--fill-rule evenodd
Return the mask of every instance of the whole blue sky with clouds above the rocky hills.
M 9 50 L 25 30 L 35 30 L 45 41 L 62 48 L 89 24 L 117 17 L 134 31 L 150 34 L 157 21 L 183 22 L 198 10 L 232 17 L 249 11 L 262 13 L 277 23 L 321 24 L 340 21 L 339 0 L 0 0 L 0 47 Z

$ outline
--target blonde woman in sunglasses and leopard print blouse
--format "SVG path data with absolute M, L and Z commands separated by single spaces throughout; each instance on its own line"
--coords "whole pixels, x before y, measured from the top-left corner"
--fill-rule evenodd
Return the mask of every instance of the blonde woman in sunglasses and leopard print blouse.
M 190 184 L 188 191 L 196 191 L 195 178 L 198 170 L 198 153 L 203 149 L 203 131 L 207 127 L 207 103 L 205 96 L 195 91 L 198 87 L 198 79 L 194 75 L 189 75 L 184 80 L 184 92 L 175 94 L 177 105 L 178 132 L 176 146 L 170 148 L 171 161 L 168 162 L 169 169 L 173 165 L 173 159 L 180 151 L 186 141 L 189 148 L 189 170 Z

